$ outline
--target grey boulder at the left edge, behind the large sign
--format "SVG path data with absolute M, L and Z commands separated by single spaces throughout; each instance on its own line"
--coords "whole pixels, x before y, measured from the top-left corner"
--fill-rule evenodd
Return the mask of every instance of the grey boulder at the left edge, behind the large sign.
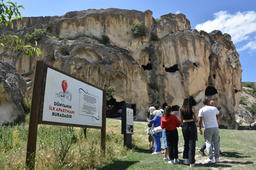
M 22 108 L 25 80 L 17 69 L 7 62 L 0 61 L 0 122 L 12 122 L 24 114 Z

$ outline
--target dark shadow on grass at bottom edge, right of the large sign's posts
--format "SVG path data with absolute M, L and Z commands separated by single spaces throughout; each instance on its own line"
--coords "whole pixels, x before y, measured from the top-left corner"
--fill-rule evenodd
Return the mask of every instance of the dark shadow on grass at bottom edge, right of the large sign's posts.
M 114 161 L 114 163 L 104 166 L 98 170 L 125 170 L 139 161 Z

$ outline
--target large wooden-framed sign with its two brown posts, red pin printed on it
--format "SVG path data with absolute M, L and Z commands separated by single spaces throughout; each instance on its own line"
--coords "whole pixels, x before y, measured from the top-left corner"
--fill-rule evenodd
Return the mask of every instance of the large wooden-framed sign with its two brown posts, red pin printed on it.
M 101 129 L 101 149 L 105 152 L 106 95 L 104 89 L 37 61 L 29 118 L 27 168 L 34 169 L 35 166 L 38 124 Z

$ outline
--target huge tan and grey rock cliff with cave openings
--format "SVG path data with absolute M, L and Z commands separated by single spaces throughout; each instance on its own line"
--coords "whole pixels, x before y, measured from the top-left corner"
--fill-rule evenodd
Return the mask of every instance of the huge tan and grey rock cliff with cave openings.
M 133 38 L 131 29 L 141 21 L 149 33 Z M 221 111 L 221 125 L 238 128 L 235 115 L 242 70 L 228 34 L 191 30 L 184 14 L 163 15 L 155 23 L 150 10 L 114 8 L 75 11 L 60 17 L 24 17 L 13 24 L 14 29 L 8 26 L 4 34 L 23 37 L 34 28 L 47 31 L 48 37 L 38 41 L 39 58 L 18 58 L 17 52 L 0 50 L 0 60 L 26 77 L 33 79 L 35 62 L 42 60 L 101 88 L 114 86 L 116 102 L 136 104 L 136 116 L 141 119 L 146 119 L 152 104 L 170 105 L 177 111 L 187 96 L 198 112 L 207 96 Z M 85 37 L 72 40 L 79 31 L 107 35 L 111 43 L 103 45 Z M 159 40 L 151 41 L 152 34 Z

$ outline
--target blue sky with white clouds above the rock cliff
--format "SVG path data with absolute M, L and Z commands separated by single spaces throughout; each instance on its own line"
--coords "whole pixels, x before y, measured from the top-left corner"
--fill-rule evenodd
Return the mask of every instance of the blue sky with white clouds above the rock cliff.
M 70 11 L 87 9 L 136 9 L 153 12 L 154 18 L 168 13 L 183 13 L 191 28 L 203 28 L 207 32 L 219 29 L 231 34 L 240 55 L 242 81 L 256 82 L 256 1 L 173 1 L 173 0 L 16 0 L 23 17 L 61 16 Z

